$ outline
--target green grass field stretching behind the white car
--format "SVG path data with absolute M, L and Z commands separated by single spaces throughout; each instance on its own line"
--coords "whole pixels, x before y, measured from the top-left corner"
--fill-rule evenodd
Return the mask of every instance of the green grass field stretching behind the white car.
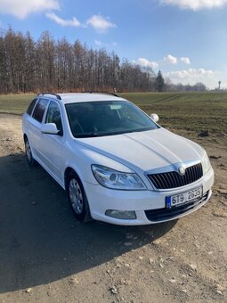
M 164 127 L 226 132 L 227 93 L 130 93 L 120 94 L 147 113 L 157 113 Z M 0 95 L 0 112 L 21 114 L 34 94 Z

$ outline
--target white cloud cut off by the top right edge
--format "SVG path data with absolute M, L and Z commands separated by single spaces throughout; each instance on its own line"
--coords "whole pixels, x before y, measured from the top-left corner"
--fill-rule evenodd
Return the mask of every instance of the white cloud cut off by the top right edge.
M 159 0 L 159 2 L 161 4 L 175 5 L 181 9 L 190 9 L 193 11 L 218 8 L 227 4 L 227 0 Z

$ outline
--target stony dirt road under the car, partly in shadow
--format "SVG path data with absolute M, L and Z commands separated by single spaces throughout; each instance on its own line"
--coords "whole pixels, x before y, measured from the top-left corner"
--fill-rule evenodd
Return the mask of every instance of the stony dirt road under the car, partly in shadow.
M 199 211 L 159 225 L 84 225 L 45 170 L 28 168 L 20 119 L 0 114 L 0 302 L 227 301 L 226 134 L 182 131 L 215 168 Z

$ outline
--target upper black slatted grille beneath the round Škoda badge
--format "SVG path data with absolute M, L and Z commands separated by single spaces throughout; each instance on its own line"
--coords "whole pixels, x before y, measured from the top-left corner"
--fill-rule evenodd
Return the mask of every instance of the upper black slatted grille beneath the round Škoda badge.
M 181 176 L 176 171 L 148 175 L 150 181 L 157 189 L 169 189 L 191 184 L 203 176 L 201 163 L 185 169 L 185 175 Z

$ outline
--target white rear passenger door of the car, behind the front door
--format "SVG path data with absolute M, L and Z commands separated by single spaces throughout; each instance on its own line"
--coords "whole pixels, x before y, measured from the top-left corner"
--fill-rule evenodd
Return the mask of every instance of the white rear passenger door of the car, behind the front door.
M 35 159 L 41 162 L 41 164 L 43 162 L 41 153 L 43 134 L 41 133 L 41 127 L 48 103 L 48 99 L 38 99 L 36 102 L 36 107 L 32 113 L 32 117 L 29 119 L 28 124 L 28 140 L 32 149 L 32 153 L 35 156 Z

